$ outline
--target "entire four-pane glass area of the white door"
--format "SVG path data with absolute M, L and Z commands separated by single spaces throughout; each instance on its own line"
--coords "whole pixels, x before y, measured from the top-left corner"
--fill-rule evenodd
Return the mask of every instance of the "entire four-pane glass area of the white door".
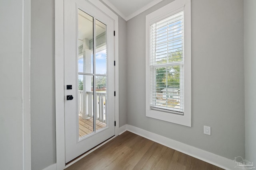
M 107 52 L 106 25 L 79 9 L 77 60 L 81 138 L 107 126 Z

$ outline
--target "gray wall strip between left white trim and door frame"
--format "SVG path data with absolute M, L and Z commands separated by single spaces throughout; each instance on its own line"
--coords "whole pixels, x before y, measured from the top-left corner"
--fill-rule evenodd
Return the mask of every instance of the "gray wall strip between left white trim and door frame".
M 54 0 L 32 0 L 32 170 L 42 170 L 56 163 L 54 79 Z

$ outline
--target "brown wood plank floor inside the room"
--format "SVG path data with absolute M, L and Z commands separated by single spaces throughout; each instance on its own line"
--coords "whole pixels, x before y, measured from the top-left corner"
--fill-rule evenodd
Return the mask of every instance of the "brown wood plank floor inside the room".
M 126 131 L 66 170 L 222 170 L 222 168 Z

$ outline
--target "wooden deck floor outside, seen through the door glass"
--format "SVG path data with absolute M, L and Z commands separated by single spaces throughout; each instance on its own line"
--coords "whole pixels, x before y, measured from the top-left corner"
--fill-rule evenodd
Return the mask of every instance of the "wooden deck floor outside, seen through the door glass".
M 96 130 L 106 127 L 105 123 L 96 121 Z M 93 132 L 93 119 L 83 119 L 79 116 L 79 137 L 88 135 Z

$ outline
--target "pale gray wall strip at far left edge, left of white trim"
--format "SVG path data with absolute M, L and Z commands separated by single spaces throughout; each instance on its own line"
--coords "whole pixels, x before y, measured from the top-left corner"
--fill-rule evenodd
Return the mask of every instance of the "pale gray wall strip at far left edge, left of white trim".
M 22 0 L 0 1 L 0 169 L 4 170 L 21 170 L 24 165 L 22 5 Z

